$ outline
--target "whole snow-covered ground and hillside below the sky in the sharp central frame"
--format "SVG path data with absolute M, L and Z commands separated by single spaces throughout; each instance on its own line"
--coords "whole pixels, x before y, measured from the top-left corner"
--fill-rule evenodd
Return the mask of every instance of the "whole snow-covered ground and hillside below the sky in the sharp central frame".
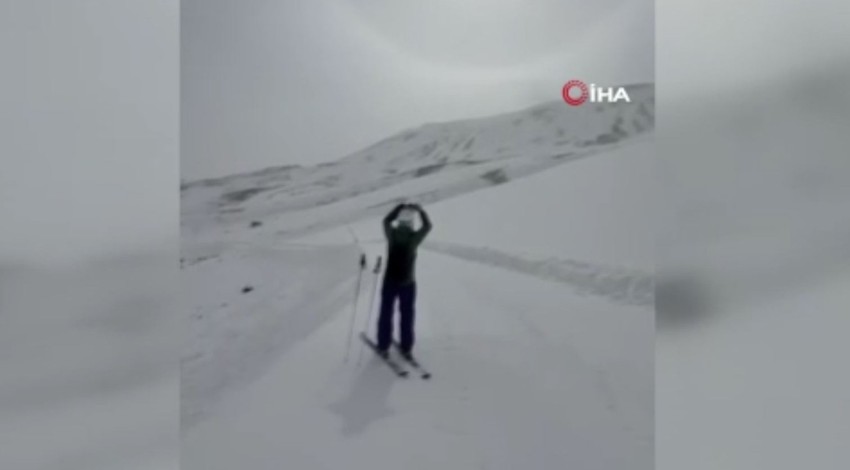
M 652 468 L 654 145 L 644 91 L 597 127 L 547 105 L 416 134 L 472 128 L 513 142 L 516 155 L 486 168 L 417 174 L 397 158 L 404 138 L 395 138 L 376 146 L 387 148 L 372 152 L 374 168 L 363 168 L 364 154 L 360 164 L 298 170 L 338 176 L 324 190 L 306 185 L 303 197 L 286 195 L 304 181 L 294 176 L 275 180 L 285 190 L 249 191 L 270 186 L 262 172 L 185 185 L 184 468 Z M 641 132 L 582 137 L 626 126 L 622 115 L 641 106 L 650 116 Z M 585 123 L 562 130 L 584 142 L 570 150 L 576 158 L 557 157 L 557 131 L 500 136 L 499 125 L 535 109 Z M 406 176 L 370 180 L 399 165 Z M 245 198 L 222 204 L 234 191 Z M 358 258 L 365 252 L 371 268 L 383 255 L 380 219 L 403 197 L 434 222 L 417 270 L 416 352 L 430 381 L 396 378 L 352 336 L 373 332 L 380 282 L 367 270 L 353 305 Z

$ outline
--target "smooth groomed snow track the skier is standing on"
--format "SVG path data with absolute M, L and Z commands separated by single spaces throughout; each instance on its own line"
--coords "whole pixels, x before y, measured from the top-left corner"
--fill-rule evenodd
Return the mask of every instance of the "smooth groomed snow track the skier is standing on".
M 646 377 L 636 401 L 635 390 L 617 377 L 623 371 L 608 363 L 619 360 L 618 349 L 628 343 L 612 336 L 611 344 L 595 346 L 604 353 L 593 360 L 572 344 L 622 322 L 622 312 L 606 314 L 604 304 L 586 304 L 557 284 L 454 258 L 423 258 L 419 277 L 417 351 L 435 373 L 431 381 L 397 379 L 368 350 L 359 367 L 353 359 L 342 363 L 350 318 L 343 308 L 240 400 L 190 430 L 187 468 L 233 468 L 251 458 L 252 468 L 279 468 L 281 459 L 303 469 L 368 462 L 411 469 L 546 468 L 553 462 L 648 468 L 651 417 L 639 405 L 651 400 L 651 369 L 638 361 Z M 364 312 L 375 284 L 364 280 L 356 330 L 372 332 Z M 517 306 L 524 306 L 520 315 Z M 558 327 L 573 314 L 586 331 Z M 641 321 L 626 322 L 640 328 Z M 631 335 L 628 330 L 621 332 Z M 240 430 L 250 430 L 251 439 L 240 438 Z M 375 455 L 391 455 L 391 466 L 374 462 Z

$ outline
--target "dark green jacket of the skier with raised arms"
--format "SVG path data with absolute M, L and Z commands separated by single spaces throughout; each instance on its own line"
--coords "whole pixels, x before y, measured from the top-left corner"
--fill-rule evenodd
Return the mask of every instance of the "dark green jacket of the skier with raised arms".
M 425 211 L 419 209 L 422 218 L 422 228 L 413 230 L 410 227 L 393 227 L 392 223 L 403 205 L 397 206 L 384 217 L 384 235 L 387 237 L 387 271 L 384 282 L 407 284 L 416 281 L 416 250 L 431 231 L 431 220 Z

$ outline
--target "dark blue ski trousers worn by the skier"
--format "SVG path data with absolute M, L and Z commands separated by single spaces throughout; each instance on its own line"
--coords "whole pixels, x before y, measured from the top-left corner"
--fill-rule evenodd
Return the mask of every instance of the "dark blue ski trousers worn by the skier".
M 393 338 L 393 310 L 398 299 L 398 310 L 401 313 L 399 325 L 399 346 L 402 351 L 413 349 L 414 304 L 416 303 L 416 283 L 398 283 L 384 281 L 381 288 L 381 311 L 378 315 L 378 348 L 388 349 Z

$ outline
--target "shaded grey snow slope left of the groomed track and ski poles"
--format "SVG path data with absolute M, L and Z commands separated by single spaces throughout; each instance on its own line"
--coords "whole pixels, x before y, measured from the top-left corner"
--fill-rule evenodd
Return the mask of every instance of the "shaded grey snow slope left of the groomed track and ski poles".
M 350 247 L 237 251 L 196 272 L 186 288 L 205 302 L 196 306 L 182 360 L 182 422 L 194 425 L 229 389 L 262 375 L 337 313 L 354 290 L 354 256 Z M 341 269 L 317 271 L 312 263 Z M 254 291 L 234 299 L 246 283 Z M 210 292 L 211 285 L 230 292 Z

